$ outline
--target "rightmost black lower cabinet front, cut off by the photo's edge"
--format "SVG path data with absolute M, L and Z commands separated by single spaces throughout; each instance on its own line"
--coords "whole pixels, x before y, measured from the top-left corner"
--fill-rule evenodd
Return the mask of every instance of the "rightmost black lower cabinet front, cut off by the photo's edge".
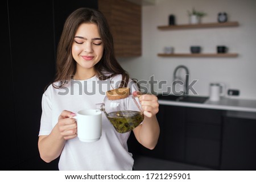
M 221 170 L 256 170 L 256 119 L 224 117 Z

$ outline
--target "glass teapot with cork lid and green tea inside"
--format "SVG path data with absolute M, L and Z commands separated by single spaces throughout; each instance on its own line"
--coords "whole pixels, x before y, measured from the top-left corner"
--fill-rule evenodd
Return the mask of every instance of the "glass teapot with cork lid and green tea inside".
M 129 88 L 117 88 L 106 92 L 104 103 L 96 104 L 103 111 L 118 133 L 126 133 L 144 119 L 143 110 Z

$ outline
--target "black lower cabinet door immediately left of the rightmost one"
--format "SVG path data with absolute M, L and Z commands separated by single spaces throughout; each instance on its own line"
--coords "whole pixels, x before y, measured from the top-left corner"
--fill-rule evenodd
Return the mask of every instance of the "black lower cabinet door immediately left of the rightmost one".
M 221 110 L 187 107 L 185 161 L 218 169 L 221 149 Z

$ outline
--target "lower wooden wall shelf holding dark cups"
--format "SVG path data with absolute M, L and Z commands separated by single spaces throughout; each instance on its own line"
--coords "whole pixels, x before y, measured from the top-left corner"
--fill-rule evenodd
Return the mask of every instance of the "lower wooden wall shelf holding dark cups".
M 158 53 L 160 57 L 237 57 L 238 53 Z

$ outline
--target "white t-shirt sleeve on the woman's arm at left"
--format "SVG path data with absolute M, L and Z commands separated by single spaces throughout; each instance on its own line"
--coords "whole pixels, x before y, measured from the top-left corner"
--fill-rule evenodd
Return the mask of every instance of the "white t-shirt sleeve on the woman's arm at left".
M 52 103 L 51 103 L 51 92 L 49 92 L 50 88 L 44 92 L 42 97 L 42 115 L 40 121 L 40 135 L 49 135 L 52 131 Z

